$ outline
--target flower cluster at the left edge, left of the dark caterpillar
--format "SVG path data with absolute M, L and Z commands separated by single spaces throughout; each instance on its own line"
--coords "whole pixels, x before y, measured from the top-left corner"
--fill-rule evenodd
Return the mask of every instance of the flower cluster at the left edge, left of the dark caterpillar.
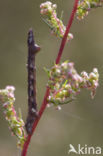
M 5 89 L 0 90 L 0 103 L 3 104 L 3 112 L 9 123 L 9 129 L 18 138 L 18 147 L 22 148 L 26 136 L 24 122 L 20 116 L 17 117 L 13 106 L 15 102 L 14 90 L 13 86 L 7 86 Z

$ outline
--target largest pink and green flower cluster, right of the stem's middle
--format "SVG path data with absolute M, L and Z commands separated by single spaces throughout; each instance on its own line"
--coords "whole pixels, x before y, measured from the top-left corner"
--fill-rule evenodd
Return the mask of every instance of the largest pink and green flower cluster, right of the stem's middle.
M 65 61 L 60 65 L 55 64 L 51 70 L 46 71 L 49 76 L 47 85 L 50 88 L 48 104 L 54 104 L 57 108 L 75 99 L 82 88 L 90 90 L 93 98 L 99 85 L 97 68 L 94 68 L 90 74 L 83 71 L 79 75 L 74 68 L 74 63 Z

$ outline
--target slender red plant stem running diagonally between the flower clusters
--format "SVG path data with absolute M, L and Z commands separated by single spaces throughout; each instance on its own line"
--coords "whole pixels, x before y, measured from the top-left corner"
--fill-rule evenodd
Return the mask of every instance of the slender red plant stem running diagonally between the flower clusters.
M 60 45 L 58 56 L 56 58 L 56 64 L 58 64 L 60 62 L 60 59 L 61 59 L 61 56 L 62 56 L 62 53 L 63 53 L 63 49 L 64 49 L 64 46 L 66 44 L 67 36 L 68 36 L 71 24 L 72 24 L 73 19 L 74 19 L 74 15 L 75 15 L 76 10 L 77 10 L 78 1 L 79 0 L 75 0 L 74 7 L 73 7 L 70 19 L 69 19 L 67 27 L 66 27 L 66 31 L 65 31 L 64 37 L 63 37 L 61 45 Z M 44 112 L 44 110 L 45 110 L 45 108 L 47 106 L 47 98 L 49 96 L 49 91 L 50 91 L 49 88 L 47 88 L 45 96 L 44 96 L 44 99 L 43 99 L 43 102 L 42 102 L 42 105 L 41 105 L 41 108 L 40 108 L 40 111 L 39 111 L 39 117 L 35 120 L 35 122 L 33 124 L 32 134 L 34 133 L 34 131 L 35 131 L 37 125 L 38 125 L 38 122 L 39 122 L 39 120 L 40 120 L 40 118 L 41 118 L 41 116 L 42 116 L 42 114 L 43 114 L 43 112 Z M 31 140 L 31 137 L 32 137 L 32 134 L 28 135 L 28 137 L 26 139 L 26 142 L 24 143 L 24 147 L 23 147 L 21 156 L 26 156 L 27 150 L 28 150 L 28 146 L 29 146 L 29 143 L 30 143 L 30 140 Z

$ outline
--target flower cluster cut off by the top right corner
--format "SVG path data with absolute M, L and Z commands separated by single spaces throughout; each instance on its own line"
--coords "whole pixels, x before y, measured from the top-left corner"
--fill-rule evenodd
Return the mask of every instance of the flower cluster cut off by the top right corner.
M 92 8 L 101 7 L 103 0 L 79 0 L 77 8 L 77 19 L 81 20 L 88 15 Z

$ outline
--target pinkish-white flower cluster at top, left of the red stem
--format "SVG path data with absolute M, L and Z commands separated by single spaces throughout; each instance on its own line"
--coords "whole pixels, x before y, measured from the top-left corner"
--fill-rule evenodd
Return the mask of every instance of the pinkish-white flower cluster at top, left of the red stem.
M 41 15 L 46 15 L 47 18 L 44 19 L 44 21 L 50 26 L 52 30 L 51 33 L 63 38 L 66 27 L 64 26 L 62 20 L 57 17 L 56 8 L 56 4 L 52 4 L 51 2 L 47 1 L 40 5 L 40 12 Z M 67 40 L 71 39 L 73 39 L 73 35 L 69 33 Z

